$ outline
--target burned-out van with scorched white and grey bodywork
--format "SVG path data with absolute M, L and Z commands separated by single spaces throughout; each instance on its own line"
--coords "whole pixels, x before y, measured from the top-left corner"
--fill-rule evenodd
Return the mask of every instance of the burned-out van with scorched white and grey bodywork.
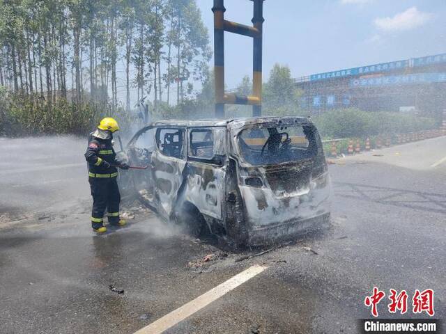
M 330 220 L 321 138 L 304 116 L 159 121 L 125 154 L 148 166 L 128 173 L 130 189 L 192 234 L 265 244 Z

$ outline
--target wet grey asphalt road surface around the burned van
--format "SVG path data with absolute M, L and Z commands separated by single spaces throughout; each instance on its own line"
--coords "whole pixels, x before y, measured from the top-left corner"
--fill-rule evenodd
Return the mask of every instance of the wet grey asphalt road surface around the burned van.
M 131 334 L 256 264 L 165 333 L 357 333 L 374 286 L 431 288 L 446 317 L 446 137 L 337 159 L 332 228 L 240 262 L 260 250 L 219 250 L 147 212 L 95 236 L 85 141 L 0 143 L 0 333 Z M 426 317 L 410 308 L 399 317 Z

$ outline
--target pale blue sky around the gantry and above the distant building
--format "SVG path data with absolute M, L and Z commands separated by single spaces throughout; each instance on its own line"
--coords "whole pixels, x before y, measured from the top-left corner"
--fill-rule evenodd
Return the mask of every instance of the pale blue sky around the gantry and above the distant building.
M 251 24 L 252 1 L 225 0 L 225 18 Z M 213 46 L 213 0 L 197 0 Z M 275 63 L 293 77 L 446 52 L 445 0 L 266 0 L 265 81 Z M 225 33 L 226 86 L 252 76 L 252 40 Z M 213 61 L 211 61 L 211 65 Z

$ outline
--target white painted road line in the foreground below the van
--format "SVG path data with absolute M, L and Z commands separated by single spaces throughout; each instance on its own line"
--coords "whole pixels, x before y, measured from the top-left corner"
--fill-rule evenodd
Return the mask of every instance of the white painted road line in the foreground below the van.
M 154 321 L 152 324 L 141 328 L 134 334 L 160 334 L 171 328 L 172 326 L 175 326 L 180 321 L 183 321 L 187 317 L 190 317 L 195 312 L 206 307 L 213 301 L 219 299 L 221 296 L 224 296 L 224 294 L 230 292 L 239 285 L 242 285 L 247 280 L 250 280 L 267 268 L 268 267 L 259 265 L 249 267 L 245 271 L 242 271 L 236 276 L 233 276 L 233 278 L 229 278 L 229 280 L 226 280 L 226 282 L 217 285 L 217 287 L 214 287 L 213 289 L 210 289 L 208 292 L 202 294 L 193 301 L 190 301 L 180 308 L 177 308 L 176 310 L 170 312 L 168 315 L 164 315 L 164 317 L 157 319 L 157 321 Z

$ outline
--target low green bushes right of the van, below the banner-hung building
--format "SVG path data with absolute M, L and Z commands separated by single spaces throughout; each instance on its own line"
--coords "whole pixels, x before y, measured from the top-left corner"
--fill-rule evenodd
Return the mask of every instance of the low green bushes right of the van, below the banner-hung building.
M 369 112 L 359 109 L 328 111 L 313 118 L 326 138 L 354 138 L 378 134 L 401 134 L 435 128 L 435 120 L 411 114 Z

